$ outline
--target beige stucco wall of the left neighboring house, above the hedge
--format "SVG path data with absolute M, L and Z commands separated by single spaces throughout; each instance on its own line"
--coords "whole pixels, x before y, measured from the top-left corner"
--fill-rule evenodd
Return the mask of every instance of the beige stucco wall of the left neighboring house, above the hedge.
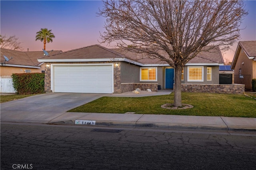
M 11 76 L 12 73 L 26 73 L 25 70 L 31 70 L 31 73 L 42 73 L 44 71 L 44 64 L 41 65 L 41 69 L 27 68 L 27 67 L 10 67 L 0 66 L 0 76 Z

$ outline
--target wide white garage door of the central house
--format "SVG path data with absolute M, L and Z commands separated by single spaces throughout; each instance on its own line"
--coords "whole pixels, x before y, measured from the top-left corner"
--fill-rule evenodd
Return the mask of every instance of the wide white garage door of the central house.
M 112 65 L 55 65 L 53 92 L 112 93 L 112 70 Z

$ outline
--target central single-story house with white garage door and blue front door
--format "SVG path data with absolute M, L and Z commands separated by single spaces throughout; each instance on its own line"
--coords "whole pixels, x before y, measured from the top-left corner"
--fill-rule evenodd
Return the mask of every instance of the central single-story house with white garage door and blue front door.
M 159 59 L 91 45 L 38 59 L 46 64 L 45 91 L 123 93 L 141 88 L 173 89 L 174 68 Z M 184 67 L 182 83 L 219 84 L 220 49 L 201 52 Z

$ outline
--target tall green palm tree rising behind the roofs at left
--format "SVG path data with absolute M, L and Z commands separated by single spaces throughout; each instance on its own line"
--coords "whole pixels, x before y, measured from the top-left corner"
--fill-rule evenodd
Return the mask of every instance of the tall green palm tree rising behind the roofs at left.
M 41 28 L 41 30 L 36 33 L 36 40 L 44 41 L 44 50 L 46 42 L 52 42 L 52 38 L 55 38 L 55 36 L 52 30 L 48 30 L 47 28 Z

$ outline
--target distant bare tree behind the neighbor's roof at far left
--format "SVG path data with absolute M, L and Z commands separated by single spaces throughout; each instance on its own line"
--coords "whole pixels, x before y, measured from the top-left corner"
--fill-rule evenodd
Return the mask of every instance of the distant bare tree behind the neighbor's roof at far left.
M 16 38 L 16 36 L 9 36 L 6 35 L 2 36 L 0 35 L 0 47 L 6 48 L 6 49 L 13 49 L 13 50 L 23 50 L 21 42 L 18 42 L 19 38 Z

